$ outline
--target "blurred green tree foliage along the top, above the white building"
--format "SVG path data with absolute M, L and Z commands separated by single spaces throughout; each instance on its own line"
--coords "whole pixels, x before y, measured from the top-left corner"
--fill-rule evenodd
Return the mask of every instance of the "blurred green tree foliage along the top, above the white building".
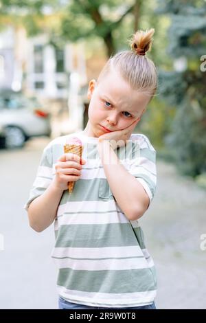
M 154 0 L 150 0 L 154 1 Z M 98 36 L 111 56 L 119 39 L 137 30 L 143 0 L 1 0 L 1 25 L 23 25 L 29 36 L 49 32 L 53 42 L 78 41 Z M 50 19 L 49 19 L 50 18 Z M 126 22 L 126 23 L 125 23 Z M 121 32 L 121 35 L 119 35 Z

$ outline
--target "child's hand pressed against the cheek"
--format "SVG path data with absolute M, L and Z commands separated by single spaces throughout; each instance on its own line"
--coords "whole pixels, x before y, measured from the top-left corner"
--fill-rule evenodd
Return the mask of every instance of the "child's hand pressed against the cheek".
M 137 118 L 130 126 L 125 129 L 112 131 L 111 133 L 104 133 L 104 135 L 100 135 L 98 142 L 104 142 L 104 140 L 111 141 L 111 146 L 113 149 L 117 147 L 125 146 L 126 140 L 129 140 L 130 135 L 133 133 L 133 129 L 139 122 L 140 118 Z

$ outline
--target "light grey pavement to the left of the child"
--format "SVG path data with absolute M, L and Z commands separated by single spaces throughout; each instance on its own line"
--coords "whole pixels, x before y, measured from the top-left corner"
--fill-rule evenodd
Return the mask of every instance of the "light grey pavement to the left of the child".
M 0 309 L 57 308 L 53 227 L 34 232 L 23 210 L 47 142 L 35 139 L 22 151 L 0 151 Z

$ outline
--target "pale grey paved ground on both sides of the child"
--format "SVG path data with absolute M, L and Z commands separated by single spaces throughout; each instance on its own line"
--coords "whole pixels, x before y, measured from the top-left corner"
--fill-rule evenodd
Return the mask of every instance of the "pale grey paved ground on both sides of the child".
M 56 268 L 50 259 L 53 226 L 41 234 L 28 225 L 23 205 L 48 140 L 20 151 L 0 151 L 0 309 L 57 308 Z M 158 161 L 155 199 L 141 219 L 157 266 L 159 309 L 206 309 L 206 192 Z

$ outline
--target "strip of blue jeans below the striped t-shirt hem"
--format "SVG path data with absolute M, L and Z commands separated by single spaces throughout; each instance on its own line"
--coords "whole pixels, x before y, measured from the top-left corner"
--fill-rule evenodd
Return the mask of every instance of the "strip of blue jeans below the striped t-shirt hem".
M 155 302 L 149 305 L 145 305 L 143 307 L 89 307 L 87 305 L 83 304 L 76 304 L 68 302 L 67 300 L 64 300 L 63 298 L 58 298 L 58 307 L 59 309 L 156 309 Z

